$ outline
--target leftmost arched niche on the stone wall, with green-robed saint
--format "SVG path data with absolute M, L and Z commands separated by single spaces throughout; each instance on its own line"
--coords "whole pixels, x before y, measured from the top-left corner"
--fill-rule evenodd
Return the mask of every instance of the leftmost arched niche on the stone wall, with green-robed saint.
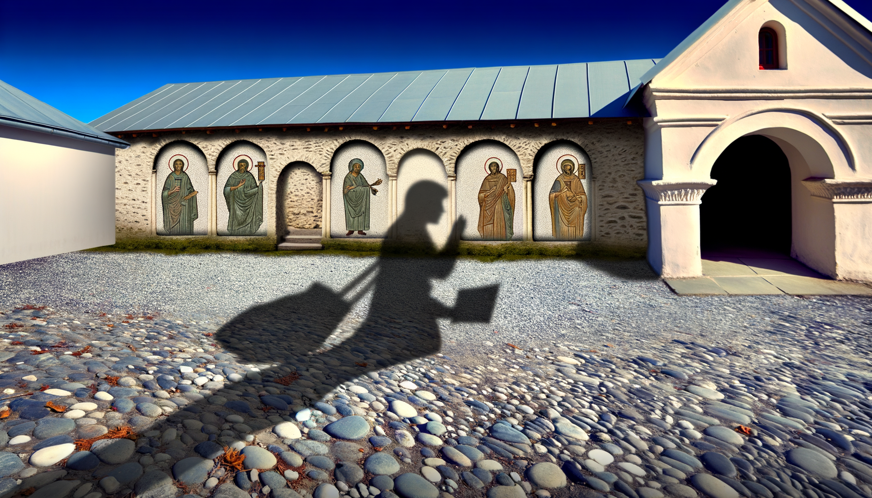
M 175 159 L 186 162 L 184 175 L 175 175 L 173 165 Z M 172 161 L 171 161 L 172 160 Z M 208 235 L 209 225 L 209 171 L 206 155 L 200 148 L 186 141 L 170 142 L 160 148 L 154 158 L 154 226 L 157 235 Z M 180 178 L 181 176 L 181 178 Z M 187 181 L 197 192 L 193 197 L 182 192 Z M 175 194 L 169 194 L 176 184 L 180 187 L 181 198 L 174 199 Z

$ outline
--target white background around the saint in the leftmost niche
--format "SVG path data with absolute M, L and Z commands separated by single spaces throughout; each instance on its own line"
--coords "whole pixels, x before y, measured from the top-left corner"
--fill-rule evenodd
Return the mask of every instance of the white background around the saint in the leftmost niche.
M 155 229 L 157 229 L 158 235 L 167 235 L 163 226 L 163 185 L 167 181 L 167 176 L 173 170 L 169 160 L 177 153 L 187 158 L 185 173 L 191 179 L 191 185 L 194 187 L 194 190 L 197 191 L 197 219 L 194 220 L 194 235 L 207 235 L 209 224 L 209 172 L 206 165 L 206 156 L 194 145 L 183 141 L 167 144 L 167 147 L 160 149 L 160 153 L 158 153 L 157 158 L 154 160 L 156 175 L 154 206 L 157 208 L 154 218 Z M 227 178 L 224 180 L 226 181 Z M 226 211 L 226 204 L 224 208 Z M 227 220 L 226 216 L 224 219 Z

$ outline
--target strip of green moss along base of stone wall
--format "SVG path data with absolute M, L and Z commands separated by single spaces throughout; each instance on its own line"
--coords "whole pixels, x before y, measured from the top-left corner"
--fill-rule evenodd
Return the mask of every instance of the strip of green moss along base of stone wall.
M 271 256 L 298 256 L 311 254 L 338 254 L 345 256 L 432 256 L 426 249 L 412 243 L 392 241 L 389 248 L 383 248 L 383 240 L 324 239 L 322 250 L 276 250 L 276 242 L 265 237 L 233 238 L 130 238 L 120 239 L 111 246 L 103 246 L 91 251 L 153 251 L 163 254 L 196 254 L 210 251 L 244 251 Z M 384 252 L 383 252 L 383 249 Z M 596 242 L 460 242 L 458 256 L 472 257 L 480 261 L 496 259 L 529 259 L 538 257 L 567 258 L 615 258 L 642 259 L 645 248 L 640 246 L 610 245 Z

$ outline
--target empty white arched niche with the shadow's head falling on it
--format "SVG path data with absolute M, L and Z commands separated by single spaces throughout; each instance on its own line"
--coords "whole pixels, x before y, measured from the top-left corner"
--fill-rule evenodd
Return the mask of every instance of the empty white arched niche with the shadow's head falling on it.
M 408 198 L 413 189 L 419 194 Z M 437 248 L 444 247 L 452 224 L 447 193 L 448 175 L 438 155 L 424 149 L 405 153 L 397 172 L 397 238 L 419 242 L 426 231 Z

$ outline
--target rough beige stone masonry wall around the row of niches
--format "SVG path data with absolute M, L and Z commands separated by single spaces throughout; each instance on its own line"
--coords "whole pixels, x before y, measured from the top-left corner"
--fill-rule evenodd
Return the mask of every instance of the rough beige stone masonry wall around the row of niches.
M 153 195 L 150 192 L 153 187 L 150 182 L 154 158 L 160 147 L 175 140 L 186 140 L 199 147 L 206 155 L 210 171 L 215 171 L 221 151 L 238 140 L 247 140 L 262 147 L 269 167 L 266 193 L 272 199 L 276 198 L 279 179 L 288 177 L 288 174 L 282 174 L 285 167 L 300 161 L 310 164 L 318 173 L 329 173 L 333 153 L 349 140 L 364 140 L 378 147 L 385 154 L 387 171 L 391 176 L 397 174 L 403 155 L 414 149 L 436 153 L 445 164 L 447 174 L 453 175 L 460 153 L 480 140 L 497 140 L 511 147 L 521 160 L 523 174 L 530 176 L 535 174 L 535 155 L 543 146 L 555 140 L 570 140 L 581 146 L 590 157 L 596 181 L 596 242 L 644 246 L 647 243 L 644 194 L 636 184 L 637 180 L 644 178 L 642 126 L 628 125 L 626 121 L 547 125 L 543 123 L 543 126 L 535 127 L 521 124 L 510 128 L 507 125 L 492 127 L 475 124 L 472 129 L 455 125 L 449 125 L 446 129 L 439 125 L 419 125 L 412 126 L 410 130 L 403 129 L 403 126 L 396 126 L 398 129 L 393 129 L 394 126 L 378 126 L 378 130 L 373 130 L 371 126 L 347 126 L 342 131 L 330 126 L 326 132 L 323 127 L 312 127 L 310 132 L 304 128 L 292 128 L 287 132 L 264 128 L 262 132 L 173 132 L 160 133 L 158 137 L 153 137 L 153 133 L 140 133 L 134 138 L 126 135 L 125 140 L 131 142 L 131 147 L 116 153 L 117 237 L 151 236 Z M 544 167 L 543 174 L 554 174 L 552 165 Z M 290 192 L 293 194 L 294 190 Z M 210 195 L 214 196 L 215 193 Z M 312 198 L 313 195 L 307 194 L 288 202 L 271 204 L 287 209 L 289 205 L 311 204 Z M 223 199 L 219 196 L 217 201 Z M 320 206 L 320 203 L 317 205 Z M 160 206 L 154 212 L 159 213 Z M 276 234 L 275 210 L 265 212 L 264 218 L 270 237 L 283 235 Z M 309 219 L 313 225 L 317 222 L 317 216 L 310 216 Z M 281 224 L 277 223 L 279 226 Z

